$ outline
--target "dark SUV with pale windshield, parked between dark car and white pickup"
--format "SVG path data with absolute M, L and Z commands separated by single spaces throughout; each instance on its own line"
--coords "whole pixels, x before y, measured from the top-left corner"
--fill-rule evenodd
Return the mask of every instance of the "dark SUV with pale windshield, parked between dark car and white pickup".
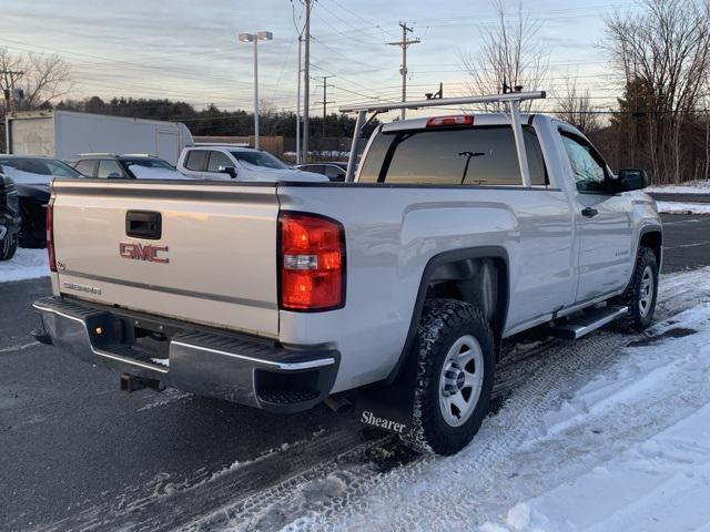
M 82 153 L 72 163 L 87 177 L 108 180 L 185 180 L 168 161 L 155 155 Z

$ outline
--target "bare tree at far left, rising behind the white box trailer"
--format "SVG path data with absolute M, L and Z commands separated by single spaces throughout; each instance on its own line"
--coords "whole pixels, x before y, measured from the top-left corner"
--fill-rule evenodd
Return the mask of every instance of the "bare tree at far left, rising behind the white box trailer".
M 17 109 L 39 109 L 51 104 L 71 90 L 71 68 L 58 55 L 30 52 L 12 55 L 0 48 L 0 72 L 22 72 L 21 75 L 0 75 L 0 90 L 21 89 L 24 98 Z

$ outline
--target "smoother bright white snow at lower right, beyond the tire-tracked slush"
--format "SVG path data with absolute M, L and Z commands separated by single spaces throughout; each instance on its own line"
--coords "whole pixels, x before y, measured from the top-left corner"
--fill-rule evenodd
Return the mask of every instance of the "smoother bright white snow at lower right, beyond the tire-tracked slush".
M 487 522 L 480 530 L 660 532 L 710 524 L 710 305 L 677 321 L 660 336 L 687 336 L 630 348 L 628 358 L 566 403 L 562 410 L 576 413 L 548 427 L 551 437 L 571 440 L 590 426 L 602 432 L 599 420 L 640 417 L 631 423 L 643 423 L 648 438 L 609 438 L 594 467 L 517 503 L 505 522 Z M 514 522 L 510 514 L 520 508 L 529 519 Z

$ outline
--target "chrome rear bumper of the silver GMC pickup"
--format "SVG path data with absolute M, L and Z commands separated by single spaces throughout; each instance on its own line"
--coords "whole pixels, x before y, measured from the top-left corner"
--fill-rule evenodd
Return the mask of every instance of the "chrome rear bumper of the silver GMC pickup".
M 327 348 L 284 348 L 273 340 L 62 298 L 34 303 L 39 341 L 91 364 L 276 412 L 306 410 L 329 393 L 339 354 Z M 166 358 L 153 358 L 139 339 L 164 337 Z

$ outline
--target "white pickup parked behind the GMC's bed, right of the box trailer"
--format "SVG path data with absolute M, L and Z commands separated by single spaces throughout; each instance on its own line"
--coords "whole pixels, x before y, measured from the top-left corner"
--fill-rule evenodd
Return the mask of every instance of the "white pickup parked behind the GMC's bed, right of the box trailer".
M 180 154 L 178 170 L 196 180 L 327 181 L 321 174 L 286 166 L 268 152 L 233 145 L 185 147 Z

